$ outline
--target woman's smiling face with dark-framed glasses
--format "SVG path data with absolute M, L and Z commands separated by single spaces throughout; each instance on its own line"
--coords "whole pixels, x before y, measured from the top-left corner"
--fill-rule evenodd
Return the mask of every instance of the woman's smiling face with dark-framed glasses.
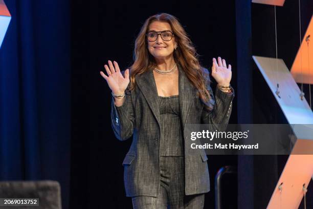
M 148 28 L 148 32 L 172 31 L 170 24 L 167 22 L 153 21 Z M 164 59 L 173 56 L 174 47 L 177 46 L 175 36 L 171 40 L 163 40 L 158 35 L 157 40 L 147 41 L 150 54 L 157 59 Z

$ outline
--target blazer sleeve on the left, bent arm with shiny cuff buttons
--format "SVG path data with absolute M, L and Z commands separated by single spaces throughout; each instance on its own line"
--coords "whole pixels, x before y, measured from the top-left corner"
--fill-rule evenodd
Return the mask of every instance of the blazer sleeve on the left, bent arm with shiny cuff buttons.
M 125 91 L 126 98 L 124 99 L 122 106 L 115 106 L 114 96 L 111 96 L 111 124 L 116 138 L 121 141 L 124 141 L 132 136 L 135 124 L 135 116 L 131 102 L 131 92 L 128 90 L 128 87 Z

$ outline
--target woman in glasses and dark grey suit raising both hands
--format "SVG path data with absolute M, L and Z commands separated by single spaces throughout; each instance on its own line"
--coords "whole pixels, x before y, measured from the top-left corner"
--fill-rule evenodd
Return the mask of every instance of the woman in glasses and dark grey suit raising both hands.
M 113 95 L 116 137 L 133 135 L 123 161 L 126 196 L 133 208 L 203 208 L 210 191 L 208 158 L 204 150 L 190 151 L 184 129 L 206 123 L 215 131 L 228 123 L 231 66 L 213 58 L 214 100 L 208 70 L 200 66 L 181 24 L 166 13 L 146 20 L 134 58 L 131 73 L 121 72 L 116 61 L 104 66 L 107 75 L 100 72 Z

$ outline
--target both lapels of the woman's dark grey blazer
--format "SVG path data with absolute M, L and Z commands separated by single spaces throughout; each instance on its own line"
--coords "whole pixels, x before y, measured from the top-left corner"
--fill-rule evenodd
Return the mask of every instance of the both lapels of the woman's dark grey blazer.
M 158 102 L 159 96 L 157 85 L 155 84 L 155 79 L 153 76 L 153 71 L 148 70 L 147 72 L 136 76 L 136 82 L 160 126 L 160 111 Z M 180 117 L 184 130 L 191 108 L 191 102 L 194 101 L 196 88 L 189 81 L 180 65 L 178 65 L 178 94 L 180 103 Z

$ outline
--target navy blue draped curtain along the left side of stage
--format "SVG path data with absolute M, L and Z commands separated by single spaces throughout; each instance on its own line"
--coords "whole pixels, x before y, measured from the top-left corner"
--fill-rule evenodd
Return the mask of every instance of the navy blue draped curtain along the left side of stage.
M 70 15 L 63 0 L 7 0 L 0 49 L 0 181 L 57 180 L 70 192 Z

